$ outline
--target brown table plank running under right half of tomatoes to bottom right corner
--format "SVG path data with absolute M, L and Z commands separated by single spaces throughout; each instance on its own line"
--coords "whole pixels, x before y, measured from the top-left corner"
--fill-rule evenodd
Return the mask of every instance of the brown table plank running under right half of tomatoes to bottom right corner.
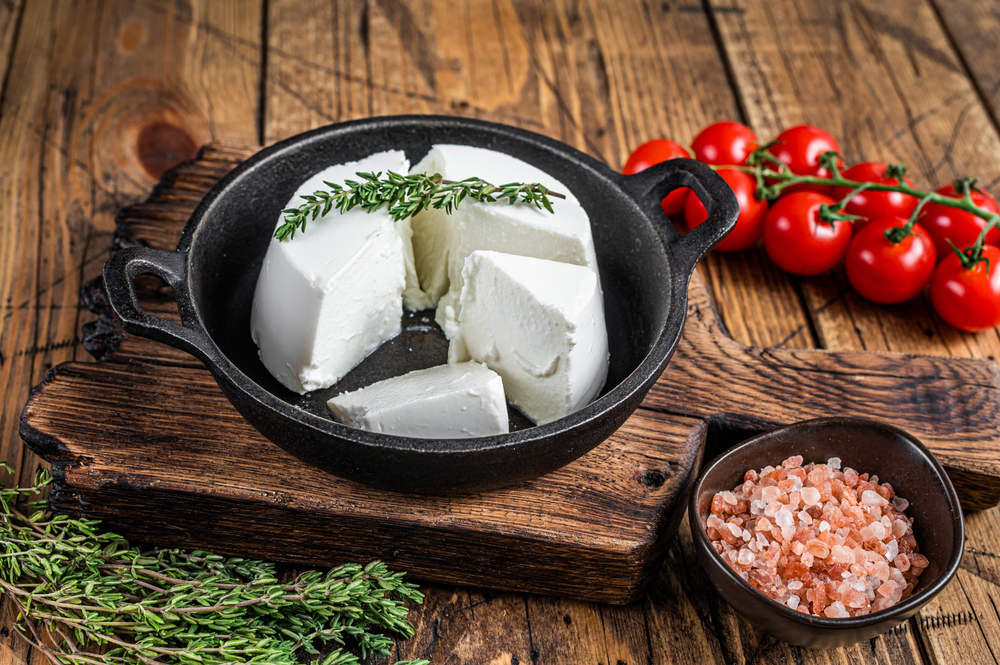
M 848 162 L 903 159 L 924 188 L 960 175 L 986 182 L 1000 175 L 995 114 L 982 104 L 953 49 L 964 40 L 949 40 L 939 22 L 974 37 L 990 25 L 988 18 L 981 27 L 969 25 L 977 6 L 986 4 L 952 3 L 943 12 L 929 2 L 866 3 L 852 11 L 795 0 L 713 3 L 744 108 L 762 134 L 818 124 L 841 140 Z M 978 50 L 976 60 L 983 61 Z M 979 84 L 981 92 L 981 78 Z M 842 270 L 802 280 L 802 291 L 826 348 L 998 357 L 996 331 L 959 333 L 931 312 L 925 298 L 873 306 L 853 293 Z M 977 529 L 993 537 L 992 525 L 970 521 L 970 540 Z M 983 636 L 1000 624 L 982 596 L 971 601 L 970 583 L 963 575 L 910 623 L 916 630 L 907 636 L 919 634 L 935 662 L 993 661 Z

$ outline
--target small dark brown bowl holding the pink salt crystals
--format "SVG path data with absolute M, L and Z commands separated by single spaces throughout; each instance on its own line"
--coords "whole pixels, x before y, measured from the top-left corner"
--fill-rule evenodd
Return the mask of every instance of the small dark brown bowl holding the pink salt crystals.
M 906 514 L 915 518 L 913 534 L 930 564 L 908 599 L 862 617 L 807 616 L 751 587 L 716 553 L 705 532 L 712 497 L 741 484 L 748 469 L 778 466 L 792 455 L 802 455 L 806 464 L 839 457 L 858 473 L 877 474 L 910 502 Z M 726 602 L 762 631 L 804 647 L 853 644 L 910 618 L 955 575 L 965 544 L 955 488 L 931 452 L 901 429 L 860 418 L 806 420 L 731 448 L 702 470 L 688 500 L 688 519 L 698 559 Z

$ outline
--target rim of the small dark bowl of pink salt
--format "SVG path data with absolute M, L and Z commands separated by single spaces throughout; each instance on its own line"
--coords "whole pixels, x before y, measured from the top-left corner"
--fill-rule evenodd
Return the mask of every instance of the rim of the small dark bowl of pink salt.
M 724 466 L 730 458 L 738 454 L 747 448 L 752 448 L 760 439 L 765 437 L 774 436 L 779 433 L 783 433 L 789 430 L 796 430 L 803 427 L 814 427 L 817 425 L 825 424 L 842 424 L 851 425 L 857 427 L 870 427 L 873 429 L 887 430 L 896 434 L 899 434 L 903 439 L 913 447 L 914 450 L 920 453 L 920 455 L 930 464 L 930 467 L 934 470 L 935 475 L 941 481 L 944 488 L 945 496 L 948 499 L 950 507 L 952 508 L 952 513 L 957 515 L 956 520 L 957 525 L 955 528 L 955 535 L 952 538 L 952 555 L 951 559 L 948 561 L 945 568 L 942 570 L 941 575 L 934 582 L 931 583 L 929 587 L 920 591 L 920 593 L 913 594 L 903 602 L 898 605 L 894 605 L 888 609 L 880 610 L 878 612 L 872 612 L 860 617 L 847 617 L 845 619 L 833 619 L 830 617 L 817 617 L 809 614 L 802 614 L 796 610 L 791 609 L 784 603 L 779 603 L 772 598 L 768 598 L 765 594 L 761 593 L 757 589 L 754 589 L 746 580 L 736 574 L 732 568 L 727 566 L 723 561 L 719 553 L 715 551 L 712 547 L 711 542 L 708 539 L 708 534 L 705 532 L 704 526 L 701 523 L 701 516 L 698 514 L 698 497 L 701 495 L 701 487 L 705 482 L 705 478 L 708 474 L 719 466 Z M 962 516 L 961 504 L 958 500 L 958 494 L 955 493 L 955 487 L 951 483 L 951 479 L 948 478 L 948 474 L 945 472 L 944 468 L 938 463 L 937 458 L 934 454 L 928 450 L 927 446 L 921 443 L 916 437 L 914 437 L 909 432 L 902 430 L 898 427 L 888 425 L 886 423 L 879 422 L 877 420 L 870 420 L 868 418 L 815 418 L 813 420 L 802 420 L 791 425 L 786 425 L 784 427 L 779 427 L 777 429 L 764 432 L 763 434 L 758 434 L 755 437 L 747 439 L 743 443 L 740 443 L 725 453 L 719 455 L 714 460 L 709 462 L 702 468 L 701 473 L 698 474 L 698 480 L 695 481 L 694 487 L 691 489 L 691 494 L 688 497 L 688 519 L 691 522 L 691 531 L 694 533 L 694 539 L 697 546 L 709 552 L 710 556 L 707 557 L 711 561 L 710 564 L 715 570 L 721 571 L 729 580 L 734 583 L 742 585 L 744 589 L 749 591 L 754 598 L 766 604 L 767 607 L 773 609 L 775 612 L 780 613 L 788 619 L 797 621 L 804 626 L 809 626 L 811 628 L 833 628 L 833 629 L 851 629 L 851 628 L 861 628 L 871 624 L 879 623 L 880 621 L 885 621 L 886 619 L 892 619 L 894 617 L 904 617 L 904 615 L 913 614 L 921 606 L 930 601 L 934 596 L 941 592 L 941 590 L 951 581 L 951 578 L 955 576 L 958 572 L 958 566 L 962 562 L 962 554 L 965 548 L 965 520 Z M 695 527 L 697 525 L 697 528 Z M 702 559 L 704 561 L 704 559 Z

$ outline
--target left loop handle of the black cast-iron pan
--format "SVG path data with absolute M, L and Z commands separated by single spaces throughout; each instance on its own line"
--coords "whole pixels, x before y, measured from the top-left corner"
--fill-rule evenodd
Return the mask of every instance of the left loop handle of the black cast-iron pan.
M 132 280 L 139 275 L 155 275 L 174 290 L 182 320 L 194 318 L 187 280 L 187 255 L 149 247 L 129 247 L 117 252 L 104 264 L 104 286 L 111 307 L 126 332 L 148 337 L 197 356 L 209 366 L 215 364 L 215 345 L 200 325 L 174 323 L 142 311 Z

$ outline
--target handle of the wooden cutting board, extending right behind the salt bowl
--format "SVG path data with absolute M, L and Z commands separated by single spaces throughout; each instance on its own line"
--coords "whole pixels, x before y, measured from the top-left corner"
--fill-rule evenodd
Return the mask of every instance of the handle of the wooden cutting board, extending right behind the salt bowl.
M 693 282 L 681 343 L 645 404 L 746 431 L 824 416 L 883 420 L 934 451 L 964 506 L 1000 501 L 1000 367 L 990 360 L 743 346 Z

